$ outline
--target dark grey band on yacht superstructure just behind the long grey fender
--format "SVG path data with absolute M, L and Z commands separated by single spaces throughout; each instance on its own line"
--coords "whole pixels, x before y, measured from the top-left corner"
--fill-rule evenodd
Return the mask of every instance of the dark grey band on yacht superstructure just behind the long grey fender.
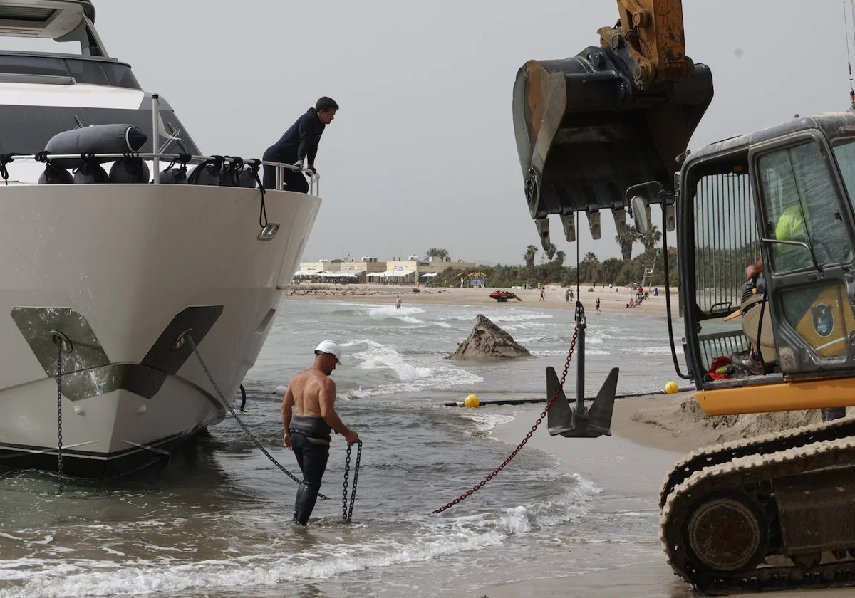
M 166 131 L 171 134 L 180 132 L 182 139 L 182 143 L 170 142 L 164 149 L 166 153 L 201 154 L 174 112 L 162 109 L 161 118 Z M 114 124 L 136 126 L 151 138 L 150 110 L 0 105 L 0 153 L 37 154 L 44 150 L 45 144 L 56 133 L 69 131 L 80 125 Z M 165 141 L 162 139 L 161 143 Z M 143 146 L 140 153 L 150 151 L 149 142 Z

